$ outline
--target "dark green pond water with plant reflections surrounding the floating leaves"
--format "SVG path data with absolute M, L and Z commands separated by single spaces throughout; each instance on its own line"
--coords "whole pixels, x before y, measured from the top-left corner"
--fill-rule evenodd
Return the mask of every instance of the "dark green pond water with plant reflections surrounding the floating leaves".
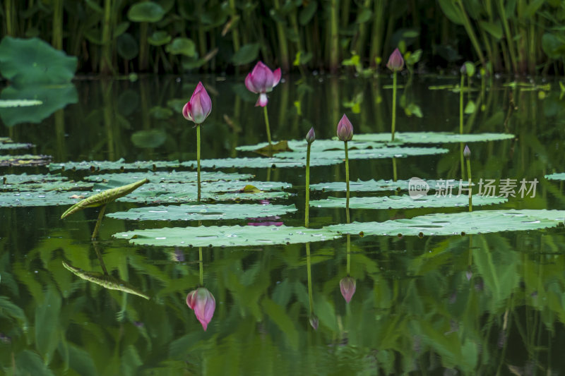
M 286 78 L 270 93 L 274 140 L 331 138 L 343 113 L 355 134 L 390 131 L 391 78 Z M 126 162 L 196 158 L 196 131 L 180 109 L 202 80 L 213 101 L 203 125 L 202 157 L 254 157 L 238 145 L 266 140 L 263 113 L 242 78 L 148 77 L 77 80 L 77 100 L 40 123 L 2 125 L 0 137 L 31 142 L 53 162 Z M 459 94 L 431 90 L 458 77 L 416 77 L 398 95 L 397 131 L 459 132 Z M 476 111 L 465 133 L 512 133 L 509 140 L 472 142 L 473 181 L 525 178 L 535 197 L 510 197 L 482 209 L 564 209 L 563 184 L 544 176 L 565 171 L 565 99 L 557 80 L 505 85 L 473 80 L 465 93 Z M 533 80 L 534 82 L 534 80 Z M 492 85 L 491 85 L 492 84 Z M 549 87 L 544 86 L 550 84 Z M 178 99 L 175 102 L 172 99 Z M 180 108 L 178 104 L 180 103 Z M 357 106 L 355 105 L 357 104 Z M 172 110 L 174 108 L 174 110 Z M 31 111 L 31 110 L 30 110 Z M 354 136 L 355 140 L 355 136 Z M 461 178 L 460 144 L 448 152 L 396 158 L 398 179 Z M 23 154 L 4 151 L 0 154 Z M 304 169 L 222 169 L 258 181 L 292 183 L 297 212 L 274 220 L 304 224 Z M 3 174 L 46 174 L 44 166 L 4 166 Z M 89 171 L 65 171 L 80 179 Z M 350 180 L 392 179 L 392 159 L 350 161 Z M 316 166 L 311 183 L 343 181 L 345 165 Z M 1 181 L 0 181 L 1 183 Z M 2 185 L 0 184 L 0 188 Z M 312 192 L 311 199 L 343 193 Z M 394 195 L 391 192 L 352 196 Z M 107 213 L 138 205 L 114 202 Z M 565 231 L 499 231 L 465 236 L 350 236 L 350 303 L 340 293 L 347 275 L 347 238 L 307 245 L 203 248 L 203 284 L 215 313 L 203 331 L 186 295 L 199 284 L 198 248 L 131 245 L 112 238 L 133 229 L 197 226 L 106 217 L 91 243 L 98 210 L 59 219 L 69 206 L 0 207 L 0 373 L 6 375 L 557 375 L 565 370 Z M 351 220 L 383 222 L 467 207 L 352 209 Z M 345 209 L 312 207 L 311 227 L 345 222 Z M 261 219 L 204 221 L 203 226 Z M 473 226 L 472 223 L 469 226 Z M 69 272 L 103 264 L 140 296 L 105 289 Z M 309 304 L 308 266 L 311 265 Z M 316 316 L 319 327 L 309 323 Z

